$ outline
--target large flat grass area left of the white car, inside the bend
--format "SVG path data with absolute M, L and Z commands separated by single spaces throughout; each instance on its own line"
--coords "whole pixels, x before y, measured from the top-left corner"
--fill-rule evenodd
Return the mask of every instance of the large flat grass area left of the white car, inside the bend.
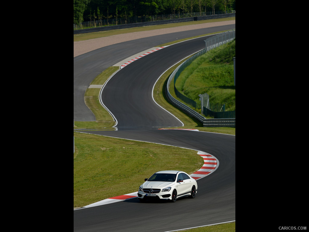
M 192 174 L 204 160 L 195 150 L 74 132 L 74 207 L 138 191 L 158 170 Z

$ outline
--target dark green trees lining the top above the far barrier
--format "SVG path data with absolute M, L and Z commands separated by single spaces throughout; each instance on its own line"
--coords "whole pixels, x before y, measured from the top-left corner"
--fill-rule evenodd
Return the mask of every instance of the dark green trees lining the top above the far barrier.
M 73 0 L 74 24 L 86 21 L 194 12 L 235 11 L 235 0 Z

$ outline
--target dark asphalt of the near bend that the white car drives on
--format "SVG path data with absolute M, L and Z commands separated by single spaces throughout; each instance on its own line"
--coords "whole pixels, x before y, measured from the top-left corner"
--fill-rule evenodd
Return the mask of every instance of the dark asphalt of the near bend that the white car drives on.
M 235 136 L 182 130 L 84 132 L 197 149 L 214 155 L 220 165 L 197 180 L 194 199 L 140 203 L 132 198 L 74 210 L 74 231 L 164 232 L 235 221 Z M 142 183 L 136 183 L 137 191 Z

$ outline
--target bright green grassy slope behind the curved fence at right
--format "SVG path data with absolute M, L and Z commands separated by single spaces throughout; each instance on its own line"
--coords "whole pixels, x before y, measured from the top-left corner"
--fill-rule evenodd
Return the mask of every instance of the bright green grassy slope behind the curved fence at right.
M 211 105 L 225 104 L 226 111 L 234 111 L 235 43 L 234 40 L 196 58 L 178 77 L 175 84 L 178 91 L 197 103 L 200 102 L 198 95 L 207 93 Z M 200 104 L 197 105 L 200 109 Z

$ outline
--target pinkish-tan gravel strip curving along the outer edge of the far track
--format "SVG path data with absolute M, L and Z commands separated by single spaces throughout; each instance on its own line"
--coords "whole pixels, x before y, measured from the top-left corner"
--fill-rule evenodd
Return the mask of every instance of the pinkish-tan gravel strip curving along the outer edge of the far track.
M 74 57 L 93 51 L 95 49 L 108 46 L 108 45 L 117 44 L 117 43 L 130 41 L 130 40 L 135 40 L 139 38 L 163 35 L 163 34 L 173 33 L 173 32 L 195 30 L 195 29 L 201 29 L 201 28 L 230 25 L 230 24 L 235 24 L 235 20 L 215 22 L 215 23 L 195 24 L 195 25 L 180 26 L 180 27 L 173 27 L 173 28 L 156 29 L 156 30 L 151 30 L 151 31 L 146 31 L 146 32 L 131 32 L 131 33 L 126 33 L 125 36 L 114 35 L 114 36 L 101 37 L 101 38 L 85 40 L 85 41 L 77 41 L 77 42 L 74 42 Z

